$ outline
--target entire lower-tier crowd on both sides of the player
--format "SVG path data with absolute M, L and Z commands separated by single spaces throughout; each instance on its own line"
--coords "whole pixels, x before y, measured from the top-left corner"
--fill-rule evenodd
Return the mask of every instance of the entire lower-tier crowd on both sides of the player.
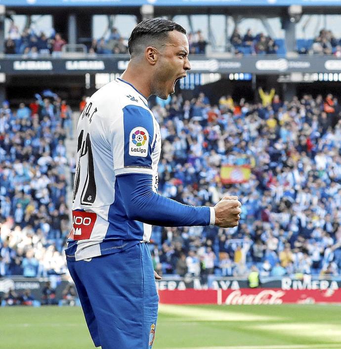
M 156 99 L 159 193 L 193 205 L 213 205 L 228 193 L 243 203 L 233 229 L 154 227 L 149 246 L 158 273 L 204 281 L 210 274 L 246 276 L 254 265 L 262 276 L 340 273 L 338 100 L 259 93 L 259 103 L 225 95 L 213 105 L 203 93 Z M 0 109 L 0 275 L 67 272 L 71 109 L 48 91 L 36 97 L 29 107 L 4 102 Z M 252 171 L 244 183 L 226 186 L 223 165 Z

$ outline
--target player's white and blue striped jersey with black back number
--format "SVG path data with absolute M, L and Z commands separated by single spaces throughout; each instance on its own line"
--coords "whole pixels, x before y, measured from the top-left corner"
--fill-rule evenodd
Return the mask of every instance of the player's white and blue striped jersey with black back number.
M 158 187 L 160 127 L 147 100 L 116 79 L 96 91 L 77 126 L 77 168 L 68 259 L 83 260 L 148 242 L 152 227 L 129 220 L 116 177 L 150 174 Z

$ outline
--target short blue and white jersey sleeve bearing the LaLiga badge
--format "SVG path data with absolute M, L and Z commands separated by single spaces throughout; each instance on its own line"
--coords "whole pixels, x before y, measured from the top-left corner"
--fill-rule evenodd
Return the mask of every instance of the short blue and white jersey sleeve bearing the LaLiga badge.
M 113 123 L 111 130 L 115 175 L 152 174 L 152 115 L 138 105 L 128 105 L 122 112 L 123 117 Z

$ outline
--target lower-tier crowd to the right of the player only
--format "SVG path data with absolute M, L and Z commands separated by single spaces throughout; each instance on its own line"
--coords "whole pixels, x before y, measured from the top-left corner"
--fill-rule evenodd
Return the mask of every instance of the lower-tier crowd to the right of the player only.
M 328 95 L 211 105 L 201 93 L 153 108 L 161 124 L 159 191 L 187 204 L 213 205 L 224 194 L 243 203 L 234 229 L 154 228 L 152 254 L 162 274 L 262 276 L 340 273 L 341 120 Z M 245 183 L 225 187 L 224 164 L 249 165 Z

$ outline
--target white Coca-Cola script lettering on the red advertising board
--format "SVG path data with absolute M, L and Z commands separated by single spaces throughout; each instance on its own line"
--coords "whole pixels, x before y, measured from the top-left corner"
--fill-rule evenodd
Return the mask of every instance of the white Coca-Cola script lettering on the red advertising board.
M 241 290 L 230 293 L 225 304 L 282 304 L 285 291 L 263 290 L 256 294 L 242 294 Z

